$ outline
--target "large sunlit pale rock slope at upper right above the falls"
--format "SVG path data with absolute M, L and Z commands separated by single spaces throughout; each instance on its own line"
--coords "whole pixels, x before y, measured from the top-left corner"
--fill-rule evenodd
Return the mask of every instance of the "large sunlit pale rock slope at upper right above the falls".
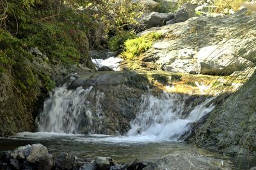
M 240 14 L 193 17 L 148 29 L 141 35 L 161 32 L 164 38 L 143 54 L 140 67 L 214 75 L 243 71 L 255 64 L 255 23 L 253 15 Z

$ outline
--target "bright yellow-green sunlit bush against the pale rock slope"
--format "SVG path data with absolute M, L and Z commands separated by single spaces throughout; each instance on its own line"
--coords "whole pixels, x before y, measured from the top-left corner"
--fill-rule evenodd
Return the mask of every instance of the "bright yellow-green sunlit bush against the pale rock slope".
M 152 45 L 153 41 L 163 38 L 163 34 L 159 32 L 151 32 L 135 39 L 128 39 L 125 41 L 125 51 L 122 55 L 127 59 L 134 59 L 143 52 L 146 52 Z

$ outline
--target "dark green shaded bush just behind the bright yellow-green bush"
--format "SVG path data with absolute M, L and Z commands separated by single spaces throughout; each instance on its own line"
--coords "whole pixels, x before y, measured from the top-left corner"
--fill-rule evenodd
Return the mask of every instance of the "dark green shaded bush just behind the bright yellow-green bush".
M 117 51 L 124 45 L 127 39 L 132 39 L 135 37 L 133 32 L 120 32 L 118 35 L 113 36 L 108 41 L 108 48 L 112 51 Z

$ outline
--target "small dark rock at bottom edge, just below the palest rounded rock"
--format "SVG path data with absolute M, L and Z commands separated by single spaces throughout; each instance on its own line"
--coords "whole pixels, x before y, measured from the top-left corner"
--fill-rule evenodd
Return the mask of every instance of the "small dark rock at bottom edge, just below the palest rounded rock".
M 32 145 L 33 146 L 33 145 Z M 51 170 L 54 166 L 54 161 L 51 154 L 42 155 L 35 159 L 38 170 Z

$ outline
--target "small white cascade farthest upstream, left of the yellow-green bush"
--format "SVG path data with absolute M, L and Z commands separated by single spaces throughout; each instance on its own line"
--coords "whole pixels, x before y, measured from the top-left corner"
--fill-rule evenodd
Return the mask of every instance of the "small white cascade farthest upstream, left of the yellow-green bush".
M 123 59 L 118 57 L 109 57 L 108 59 L 92 59 L 93 64 L 95 64 L 96 67 L 100 68 L 103 66 L 108 66 L 109 68 L 120 71 L 120 68 L 118 67 L 120 65 L 120 62 L 122 62 Z

